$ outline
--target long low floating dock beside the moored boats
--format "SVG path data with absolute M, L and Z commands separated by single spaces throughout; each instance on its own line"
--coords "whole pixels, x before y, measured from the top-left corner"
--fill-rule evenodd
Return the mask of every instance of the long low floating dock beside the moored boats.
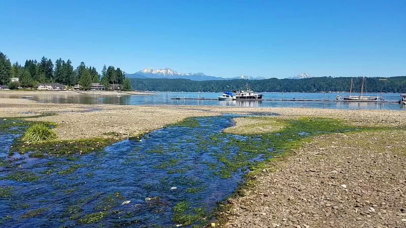
M 218 98 L 191 98 L 174 97 L 172 100 L 218 100 Z M 324 99 L 234 99 L 241 101 L 314 101 L 314 102 L 375 102 L 375 103 L 399 103 L 395 100 L 324 100 Z

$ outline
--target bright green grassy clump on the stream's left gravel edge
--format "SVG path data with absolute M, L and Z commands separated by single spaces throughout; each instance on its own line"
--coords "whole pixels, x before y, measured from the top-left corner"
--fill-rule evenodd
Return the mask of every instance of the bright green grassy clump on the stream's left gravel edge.
M 56 139 L 56 133 L 43 123 L 33 123 L 24 133 L 22 140 L 25 142 L 41 142 Z

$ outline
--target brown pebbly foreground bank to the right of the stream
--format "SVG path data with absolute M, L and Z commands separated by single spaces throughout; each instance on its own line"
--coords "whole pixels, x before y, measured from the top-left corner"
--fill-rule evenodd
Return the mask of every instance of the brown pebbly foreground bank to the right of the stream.
M 269 163 L 246 196 L 229 199 L 221 226 L 405 227 L 405 133 L 316 137 Z

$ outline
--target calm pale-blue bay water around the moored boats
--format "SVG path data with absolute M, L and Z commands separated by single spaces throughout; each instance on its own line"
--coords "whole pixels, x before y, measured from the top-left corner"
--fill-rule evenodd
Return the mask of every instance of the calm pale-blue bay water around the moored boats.
M 182 104 L 182 105 L 225 105 L 245 107 L 319 107 L 336 109 L 392 109 L 406 110 L 406 105 L 399 103 L 378 102 L 314 102 L 314 101 L 219 101 L 219 100 L 172 100 L 171 98 L 217 98 L 222 93 L 155 93 L 156 95 L 77 95 L 65 92 L 54 94 L 36 94 L 33 99 L 44 103 L 80 103 L 80 104 L 126 104 L 126 105 L 157 105 L 157 104 Z M 326 99 L 335 100 L 337 95 L 344 93 L 326 93 Z M 352 95 L 357 95 L 353 93 Z M 370 96 L 379 96 L 369 93 Z M 1 97 L 21 98 L 17 95 L 0 95 Z M 284 99 L 324 99 L 324 93 L 284 93 Z M 399 100 L 400 94 L 383 94 L 385 100 Z M 282 93 L 264 93 L 263 99 L 281 99 Z

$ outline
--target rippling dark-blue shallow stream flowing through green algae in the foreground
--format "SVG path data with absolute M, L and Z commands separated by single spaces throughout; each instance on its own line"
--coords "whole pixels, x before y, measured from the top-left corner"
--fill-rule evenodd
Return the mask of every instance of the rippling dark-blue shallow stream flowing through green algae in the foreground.
M 248 139 L 219 134 L 233 124 L 232 117 L 197 118 L 197 127 L 169 126 L 153 131 L 141 142 L 123 140 L 81 156 L 29 158 L 15 154 L 7 159 L 12 139 L 19 135 L 0 133 L 0 140 L 7 139 L 0 147 L 0 157 L 12 165 L 0 166 L 2 191 L 11 189 L 9 196 L 0 195 L 1 225 L 168 227 L 177 224 L 171 221 L 173 207 L 182 201 L 190 204 L 188 213 L 193 214 L 193 208 L 210 212 L 242 180 L 240 169 L 221 178 L 219 170 L 224 165 L 216 158 L 231 138 Z M 238 147 L 229 147 L 227 156 L 237 151 Z M 16 172 L 38 179 L 1 180 Z M 130 203 L 121 205 L 128 200 Z M 27 212 L 39 208 L 39 214 L 27 217 Z M 86 214 L 100 211 L 107 212 L 100 221 L 80 223 Z

